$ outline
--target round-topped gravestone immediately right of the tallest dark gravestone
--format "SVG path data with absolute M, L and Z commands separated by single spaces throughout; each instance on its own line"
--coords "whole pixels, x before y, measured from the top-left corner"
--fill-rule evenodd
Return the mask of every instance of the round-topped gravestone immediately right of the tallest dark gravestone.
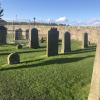
M 69 32 L 65 32 L 62 38 L 62 53 L 71 52 L 71 37 Z

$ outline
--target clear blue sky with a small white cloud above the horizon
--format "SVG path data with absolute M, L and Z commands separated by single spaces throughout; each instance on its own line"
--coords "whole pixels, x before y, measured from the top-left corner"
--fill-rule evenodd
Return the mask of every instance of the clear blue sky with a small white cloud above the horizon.
M 0 0 L 3 19 L 100 23 L 100 0 Z M 85 22 L 85 23 L 84 23 Z M 87 23 L 86 23 L 87 22 Z

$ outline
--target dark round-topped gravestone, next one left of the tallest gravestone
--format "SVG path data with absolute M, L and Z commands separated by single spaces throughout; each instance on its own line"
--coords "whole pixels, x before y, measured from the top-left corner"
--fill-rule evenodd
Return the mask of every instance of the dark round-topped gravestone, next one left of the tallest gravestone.
M 33 28 L 30 35 L 30 48 L 37 49 L 39 47 L 38 30 Z

